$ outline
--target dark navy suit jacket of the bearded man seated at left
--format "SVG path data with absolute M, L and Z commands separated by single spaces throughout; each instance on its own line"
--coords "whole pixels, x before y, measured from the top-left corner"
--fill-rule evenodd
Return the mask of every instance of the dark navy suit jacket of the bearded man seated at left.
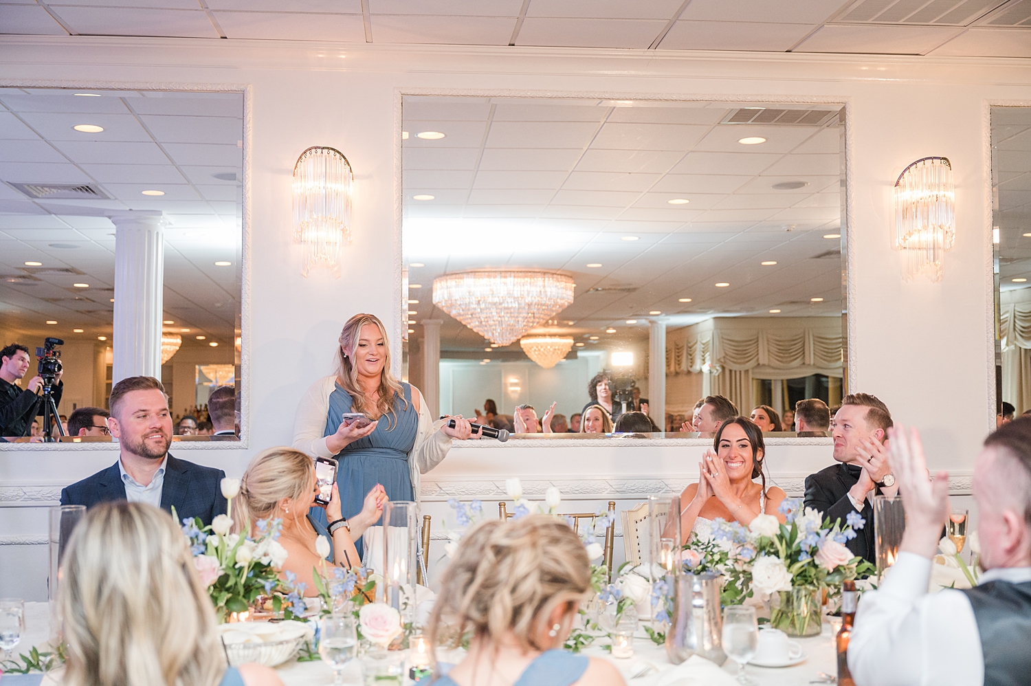
M 165 464 L 165 482 L 161 490 L 161 509 L 186 517 L 200 517 L 207 526 L 215 515 L 226 514 L 226 498 L 222 495 L 222 469 L 205 467 L 171 455 Z M 115 462 L 92 477 L 61 490 L 61 504 L 92 508 L 98 502 L 125 500 L 126 485 Z

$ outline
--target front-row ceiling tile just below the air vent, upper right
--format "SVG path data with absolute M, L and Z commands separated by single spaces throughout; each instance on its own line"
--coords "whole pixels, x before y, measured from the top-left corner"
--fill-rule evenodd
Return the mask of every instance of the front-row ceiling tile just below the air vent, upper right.
M 794 52 L 925 55 L 957 32 L 938 26 L 832 25 L 822 27 Z

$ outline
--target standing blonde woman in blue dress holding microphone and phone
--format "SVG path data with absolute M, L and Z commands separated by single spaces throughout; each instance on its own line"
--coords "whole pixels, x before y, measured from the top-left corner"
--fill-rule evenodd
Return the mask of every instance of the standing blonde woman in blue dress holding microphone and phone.
M 374 315 L 343 325 L 335 374 L 311 385 L 297 406 L 294 448 L 312 457 L 335 457 L 343 517 L 362 511 L 366 494 L 381 485 L 391 500 L 419 501 L 419 477 L 447 455 L 453 438 L 472 437 L 469 422 L 434 421 L 419 389 L 391 373 L 387 329 Z M 359 421 L 344 414 L 360 413 Z M 371 420 L 364 425 L 365 420 Z M 478 435 L 476 436 L 478 437 Z M 325 519 L 323 511 L 312 517 Z M 361 553 L 361 541 L 356 541 Z

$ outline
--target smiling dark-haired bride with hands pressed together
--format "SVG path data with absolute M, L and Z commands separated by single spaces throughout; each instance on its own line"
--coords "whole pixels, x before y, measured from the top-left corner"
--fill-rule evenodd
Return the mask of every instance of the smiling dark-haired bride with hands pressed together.
M 680 531 L 685 544 L 692 533 L 707 540 L 712 535 L 712 520 L 752 523 L 759 514 L 773 515 L 781 522 L 785 516 L 777 512 L 787 494 L 776 486 L 766 488 L 763 475 L 765 446 L 763 432 L 744 417 L 724 422 L 712 442 L 716 449 L 705 451 L 698 463 L 700 478 L 680 494 L 680 502 L 688 503 L 680 511 Z M 762 480 L 761 484 L 753 481 Z

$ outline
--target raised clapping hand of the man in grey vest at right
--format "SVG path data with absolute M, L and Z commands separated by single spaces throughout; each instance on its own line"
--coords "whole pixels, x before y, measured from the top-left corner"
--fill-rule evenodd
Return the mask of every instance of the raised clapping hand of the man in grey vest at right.
M 949 472 L 927 479 L 927 460 L 920 432 L 902 424 L 888 429 L 888 459 L 905 505 L 906 527 L 901 551 L 930 558 L 949 515 Z

